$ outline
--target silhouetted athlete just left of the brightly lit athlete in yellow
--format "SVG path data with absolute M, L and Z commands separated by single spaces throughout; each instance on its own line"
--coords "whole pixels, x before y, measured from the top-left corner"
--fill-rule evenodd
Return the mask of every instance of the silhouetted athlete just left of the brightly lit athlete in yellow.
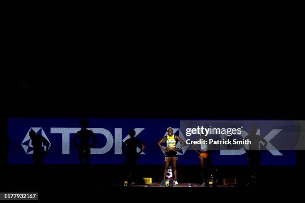
M 145 145 L 139 139 L 135 138 L 135 130 L 130 130 L 129 135 L 130 138 L 126 140 L 122 145 L 122 152 L 124 155 L 126 155 L 125 166 L 127 168 L 127 179 L 129 182 L 132 182 L 132 184 L 135 184 L 134 172 L 137 167 L 138 157 L 144 151 Z M 141 146 L 141 150 L 139 152 L 137 152 L 138 146 Z

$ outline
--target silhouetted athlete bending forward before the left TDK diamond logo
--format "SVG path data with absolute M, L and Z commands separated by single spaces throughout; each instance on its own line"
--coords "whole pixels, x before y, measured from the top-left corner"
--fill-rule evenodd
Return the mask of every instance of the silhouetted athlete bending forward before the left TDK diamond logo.
M 36 165 L 40 165 L 43 163 L 44 154 L 48 153 L 50 143 L 42 135 L 36 134 L 36 132 L 32 129 L 29 132 L 29 136 L 31 138 L 33 146 L 33 163 Z M 45 151 L 42 147 L 42 143 L 46 145 Z

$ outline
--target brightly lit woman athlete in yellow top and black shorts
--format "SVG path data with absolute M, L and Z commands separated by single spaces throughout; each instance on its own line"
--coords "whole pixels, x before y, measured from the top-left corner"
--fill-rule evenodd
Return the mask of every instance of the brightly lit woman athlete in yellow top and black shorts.
M 179 136 L 174 135 L 172 133 L 172 128 L 171 127 L 167 128 L 167 133 L 168 134 L 166 136 L 162 137 L 162 139 L 160 139 L 157 143 L 157 145 L 160 147 L 160 149 L 165 152 L 165 168 L 164 168 L 164 173 L 163 173 L 163 179 L 166 178 L 167 169 L 169 167 L 169 163 L 170 163 L 170 160 L 171 160 L 173 176 L 174 176 L 174 180 L 175 180 L 174 185 L 178 185 L 177 170 L 176 170 L 177 151 L 181 150 L 181 148 L 184 145 L 184 141 Z M 180 142 L 180 148 L 179 149 L 176 148 L 177 141 Z M 165 149 L 161 146 L 161 144 L 163 142 L 166 142 L 166 148 Z

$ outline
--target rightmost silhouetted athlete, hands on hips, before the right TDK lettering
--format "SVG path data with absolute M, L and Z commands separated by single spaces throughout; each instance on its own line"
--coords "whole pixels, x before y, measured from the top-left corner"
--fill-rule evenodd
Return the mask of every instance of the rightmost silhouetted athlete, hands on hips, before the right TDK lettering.
M 245 140 L 249 139 L 251 144 L 249 144 L 249 150 L 246 149 L 245 145 L 243 145 L 244 150 L 247 153 L 247 160 L 249 166 L 249 182 L 257 183 L 259 167 L 261 166 L 261 151 L 260 151 L 260 142 L 264 143 L 262 149 L 265 149 L 268 142 L 257 134 L 258 127 L 253 124 L 251 128 L 251 134 L 245 137 Z

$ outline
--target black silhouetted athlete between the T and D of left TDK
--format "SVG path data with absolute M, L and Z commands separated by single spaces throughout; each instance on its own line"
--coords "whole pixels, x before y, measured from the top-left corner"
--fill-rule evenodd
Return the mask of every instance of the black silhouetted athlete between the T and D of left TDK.
M 92 130 L 88 130 L 87 126 L 89 125 L 89 121 L 87 120 L 81 120 L 79 124 L 82 126 L 82 129 L 79 130 L 76 133 L 76 136 L 74 137 L 73 143 L 75 147 L 79 150 L 78 151 L 78 158 L 79 158 L 79 163 L 83 164 L 84 158 L 85 162 L 88 165 L 90 161 L 90 154 L 91 150 L 90 147 L 94 147 L 95 144 L 97 143 L 97 137 L 93 133 Z M 92 144 L 90 144 L 90 137 L 93 137 L 94 141 Z M 77 138 L 80 138 L 80 143 L 77 145 L 76 140 Z

